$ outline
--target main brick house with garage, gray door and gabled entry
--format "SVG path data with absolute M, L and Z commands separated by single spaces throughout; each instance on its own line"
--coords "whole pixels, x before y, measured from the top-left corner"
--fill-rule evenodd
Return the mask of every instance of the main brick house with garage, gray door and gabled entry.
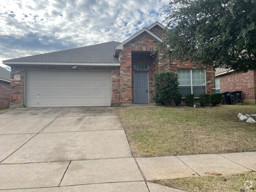
M 165 29 L 156 22 L 123 42 L 3 61 L 11 66 L 11 107 L 154 103 L 155 74 L 179 74 L 185 96 L 215 91 L 215 72 L 152 54 Z

